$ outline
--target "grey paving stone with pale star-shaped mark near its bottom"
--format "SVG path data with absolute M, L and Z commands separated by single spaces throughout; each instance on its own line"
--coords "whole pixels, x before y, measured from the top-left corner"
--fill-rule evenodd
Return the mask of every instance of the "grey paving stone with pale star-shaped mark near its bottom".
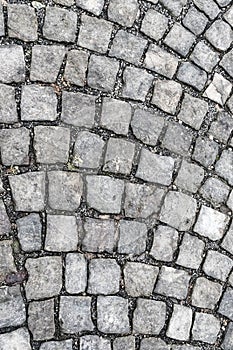
M 103 170 L 113 173 L 130 174 L 134 152 L 134 143 L 110 137 L 107 142 Z

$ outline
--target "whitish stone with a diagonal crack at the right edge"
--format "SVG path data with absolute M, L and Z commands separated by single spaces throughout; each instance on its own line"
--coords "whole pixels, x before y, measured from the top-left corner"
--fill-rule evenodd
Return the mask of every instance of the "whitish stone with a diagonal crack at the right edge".
M 223 106 L 230 96 L 232 86 L 229 80 L 225 79 L 221 74 L 215 73 L 203 96 Z

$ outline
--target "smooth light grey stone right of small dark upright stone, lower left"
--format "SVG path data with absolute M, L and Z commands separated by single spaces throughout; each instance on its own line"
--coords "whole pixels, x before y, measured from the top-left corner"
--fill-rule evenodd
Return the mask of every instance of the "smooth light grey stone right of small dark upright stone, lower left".
M 78 246 L 78 228 L 75 216 L 48 215 L 45 250 L 68 252 Z

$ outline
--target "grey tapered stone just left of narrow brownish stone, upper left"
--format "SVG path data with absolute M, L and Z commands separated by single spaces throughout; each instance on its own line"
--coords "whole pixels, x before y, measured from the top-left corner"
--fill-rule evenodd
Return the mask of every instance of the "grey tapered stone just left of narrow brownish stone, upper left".
M 58 45 L 34 45 L 30 80 L 54 83 L 57 80 L 66 49 Z

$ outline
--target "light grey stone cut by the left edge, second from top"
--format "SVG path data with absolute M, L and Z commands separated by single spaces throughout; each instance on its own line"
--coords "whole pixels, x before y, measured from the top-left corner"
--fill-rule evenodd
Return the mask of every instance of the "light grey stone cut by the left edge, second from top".
M 0 47 L 0 62 L 0 81 L 2 83 L 25 81 L 25 61 L 22 46 L 2 45 Z

